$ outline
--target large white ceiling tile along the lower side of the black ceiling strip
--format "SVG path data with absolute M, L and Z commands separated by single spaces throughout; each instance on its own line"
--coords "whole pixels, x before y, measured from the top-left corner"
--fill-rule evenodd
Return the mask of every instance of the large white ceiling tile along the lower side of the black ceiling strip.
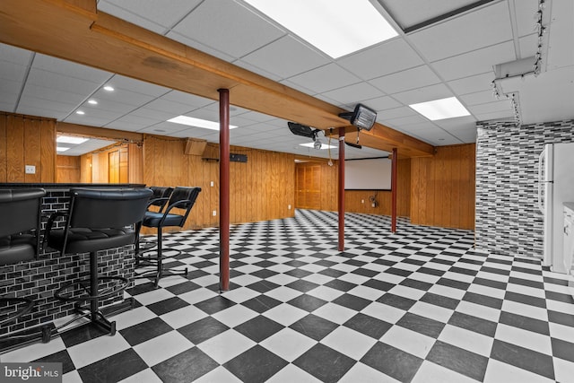
M 485 6 L 413 32 L 409 39 L 431 62 L 511 40 L 509 5 L 499 2 Z

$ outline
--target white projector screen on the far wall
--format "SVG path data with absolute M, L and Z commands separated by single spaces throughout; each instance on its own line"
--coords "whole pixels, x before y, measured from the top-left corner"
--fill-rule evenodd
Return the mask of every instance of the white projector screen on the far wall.
M 371 158 L 344 161 L 345 190 L 390 190 L 391 160 Z

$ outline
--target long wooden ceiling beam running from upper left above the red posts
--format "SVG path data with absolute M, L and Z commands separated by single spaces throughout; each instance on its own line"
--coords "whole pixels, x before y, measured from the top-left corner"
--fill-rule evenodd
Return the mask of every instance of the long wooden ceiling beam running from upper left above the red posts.
M 320 129 L 348 126 L 340 109 L 300 91 L 212 57 L 177 41 L 95 10 L 95 0 L 2 0 L 0 41 L 148 83 L 230 103 Z M 408 156 L 434 148 L 376 124 L 366 145 Z

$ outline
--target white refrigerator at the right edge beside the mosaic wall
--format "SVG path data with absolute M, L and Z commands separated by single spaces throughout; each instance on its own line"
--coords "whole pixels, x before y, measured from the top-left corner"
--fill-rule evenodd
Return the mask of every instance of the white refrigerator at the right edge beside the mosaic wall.
M 563 203 L 574 202 L 574 143 L 545 144 L 538 162 L 538 206 L 544 214 L 543 265 L 568 273 L 564 265 Z

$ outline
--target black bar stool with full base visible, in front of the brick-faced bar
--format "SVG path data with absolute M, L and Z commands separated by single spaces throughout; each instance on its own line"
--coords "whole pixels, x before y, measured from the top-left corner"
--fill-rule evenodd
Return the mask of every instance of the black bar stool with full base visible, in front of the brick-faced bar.
M 152 190 L 70 189 L 70 208 L 48 220 L 48 246 L 65 254 L 90 253 L 90 280 L 67 283 L 55 292 L 57 300 L 73 301 L 79 318 L 89 317 L 109 335 L 116 333 L 116 322 L 109 322 L 100 311 L 99 301 L 117 295 L 129 282 L 124 276 L 99 276 L 97 252 L 134 244 Z M 65 216 L 64 229 L 54 230 L 54 222 Z M 89 307 L 83 303 L 89 302 Z

